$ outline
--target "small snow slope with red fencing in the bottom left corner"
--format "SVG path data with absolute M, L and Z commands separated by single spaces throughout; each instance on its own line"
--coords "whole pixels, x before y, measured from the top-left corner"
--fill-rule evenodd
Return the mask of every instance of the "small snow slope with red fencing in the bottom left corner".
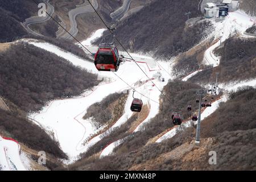
M 22 160 L 19 144 L 0 136 L 0 171 L 27 171 Z

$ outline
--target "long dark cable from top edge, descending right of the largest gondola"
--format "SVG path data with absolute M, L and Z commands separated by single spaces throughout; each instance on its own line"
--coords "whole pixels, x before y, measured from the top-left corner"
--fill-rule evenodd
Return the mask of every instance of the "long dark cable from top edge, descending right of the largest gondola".
M 34 1 L 34 0 L 33 0 Z M 87 0 L 90 4 L 90 6 L 92 6 L 93 10 L 95 11 L 95 13 L 98 15 L 98 17 L 101 19 L 101 21 L 104 23 L 104 25 L 106 26 L 106 28 L 108 28 L 109 32 L 114 35 L 114 32 L 112 30 L 110 30 L 110 28 L 108 27 L 108 25 L 105 23 L 105 21 L 101 18 L 101 15 L 98 14 L 98 11 L 93 7 L 92 3 Z M 127 51 L 127 49 L 125 47 L 123 47 L 123 44 L 117 39 L 117 37 L 114 35 L 115 40 L 117 40 L 117 42 L 120 44 L 120 46 L 123 48 L 123 50 L 125 50 L 125 52 L 131 57 L 131 60 L 134 61 L 134 63 L 139 67 L 139 69 L 141 69 L 141 71 L 144 73 L 144 75 L 147 76 L 147 74 L 143 71 L 143 69 L 139 66 L 139 64 L 133 59 L 133 57 L 130 55 L 130 53 Z M 148 79 L 150 79 L 150 77 L 147 76 Z M 154 82 L 151 80 L 152 84 L 154 84 Z M 154 84 L 155 85 L 155 84 Z M 159 88 L 158 86 L 155 85 L 155 87 L 159 90 L 159 92 L 168 99 L 168 101 L 171 102 L 170 98 L 168 98 Z

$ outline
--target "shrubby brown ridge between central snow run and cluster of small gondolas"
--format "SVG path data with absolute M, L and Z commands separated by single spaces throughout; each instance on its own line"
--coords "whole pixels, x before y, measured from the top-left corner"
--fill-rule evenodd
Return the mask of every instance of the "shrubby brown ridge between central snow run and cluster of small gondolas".
M 85 155 L 82 155 L 82 158 L 79 162 L 75 163 L 71 166 L 72 169 L 108 169 L 108 170 L 119 170 L 119 169 L 128 169 L 130 165 L 134 163 L 131 160 L 131 156 L 133 156 L 134 152 L 139 152 L 143 150 L 143 146 L 148 142 L 150 138 L 155 137 L 156 135 L 162 133 L 164 130 L 171 128 L 173 125 L 171 121 L 172 111 L 179 111 L 184 119 L 191 117 L 193 111 L 197 110 L 196 106 L 196 94 L 195 89 L 199 89 L 200 86 L 196 84 L 191 84 L 189 82 L 183 82 L 179 80 L 168 82 L 168 84 L 164 87 L 164 93 L 170 99 L 161 98 L 161 105 L 159 113 L 156 117 L 152 118 L 150 122 L 143 126 L 143 131 L 138 131 L 137 133 L 129 134 L 125 131 L 131 127 L 131 123 L 136 119 L 136 115 L 131 117 L 124 125 L 122 125 L 119 129 L 113 131 L 108 137 L 103 138 L 100 142 L 93 146 L 91 150 L 86 152 Z M 192 105 L 192 111 L 187 111 L 187 105 Z M 124 143 L 115 148 L 115 152 L 117 156 L 115 156 L 115 162 L 112 163 L 112 157 L 107 157 L 101 160 L 90 161 L 88 158 L 92 154 L 100 151 L 101 146 L 105 146 L 108 142 L 113 142 L 117 139 L 123 139 Z M 166 147 L 165 150 L 170 150 L 170 147 Z M 93 152 L 94 151 L 94 152 Z M 149 154 L 147 157 L 156 156 L 155 151 L 158 151 L 157 148 L 148 150 L 148 152 L 152 152 L 152 155 Z M 160 151 L 163 151 L 160 150 Z M 158 153 L 158 152 L 157 152 Z M 160 154 L 160 153 L 159 153 Z M 123 158 L 123 160 L 121 160 Z M 110 161 L 109 161 L 110 160 Z M 119 160 L 120 163 L 117 164 Z M 100 165 L 100 163 L 102 165 Z M 122 165 L 121 165 L 122 163 Z M 95 164 L 92 167 L 92 164 Z M 115 165 L 118 166 L 115 166 Z M 85 166 L 84 166 L 85 165 Z M 99 165 L 99 166 L 98 166 Z M 121 165 L 121 166 L 119 166 Z M 125 167 L 126 166 L 126 167 Z M 116 168 L 115 168 L 116 167 Z M 119 168 L 121 167 L 121 168 Z M 97 169 L 98 170 L 98 169 Z

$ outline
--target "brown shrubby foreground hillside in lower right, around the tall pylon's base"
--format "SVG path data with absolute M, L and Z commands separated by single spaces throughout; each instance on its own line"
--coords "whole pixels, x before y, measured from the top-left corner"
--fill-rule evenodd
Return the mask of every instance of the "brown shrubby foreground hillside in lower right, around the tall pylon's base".
M 190 127 L 162 143 L 144 146 L 142 142 L 132 147 L 134 143 L 126 141 L 122 146 L 133 150 L 125 151 L 122 147 L 122 152 L 113 156 L 83 159 L 69 169 L 255 170 L 255 96 L 253 88 L 232 93 L 229 101 L 202 122 L 200 146 L 195 145 L 196 129 Z M 130 140 L 140 137 L 135 134 Z M 217 165 L 209 164 L 209 151 L 217 152 Z

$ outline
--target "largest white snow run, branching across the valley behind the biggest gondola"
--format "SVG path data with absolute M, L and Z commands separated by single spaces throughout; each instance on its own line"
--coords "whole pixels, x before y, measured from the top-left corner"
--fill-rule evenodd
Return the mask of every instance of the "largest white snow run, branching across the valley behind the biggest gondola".
M 93 34 L 93 36 L 98 36 L 98 32 Z M 93 39 L 93 37 L 90 37 L 89 40 L 85 40 L 83 43 L 88 45 L 90 44 L 90 40 Z M 86 121 L 82 119 L 88 107 L 96 102 L 100 102 L 109 94 L 131 89 L 125 82 L 133 86 L 139 93 L 150 97 L 151 100 L 148 100 L 148 98 L 135 92 L 135 97 L 141 98 L 144 104 L 148 104 L 152 108 L 148 119 L 154 117 L 156 113 L 158 113 L 160 92 L 156 89 L 156 86 L 159 89 L 162 89 L 163 86 L 167 84 L 167 80 L 170 79 L 170 76 L 166 72 L 163 72 L 151 57 L 131 53 L 133 59 L 138 61 L 137 63 L 143 71 L 146 72 L 148 77 L 152 78 L 152 75 L 160 71 L 163 77 L 166 78 L 166 81 L 160 82 L 153 80 L 156 85 L 152 84 L 151 81 L 139 85 L 139 81 L 146 81 L 148 78 L 133 61 L 125 61 L 125 63 L 120 65 L 118 72 L 115 72 L 115 74 L 125 81 L 123 82 L 114 73 L 98 72 L 92 62 L 83 60 L 72 53 L 65 52 L 52 44 L 37 42 L 36 40 L 28 40 L 27 42 L 36 47 L 45 49 L 46 51 L 55 53 L 89 72 L 97 73 L 100 79 L 102 77 L 109 78 L 91 90 L 85 90 L 79 97 L 52 101 L 47 106 L 43 107 L 40 113 L 31 113 L 29 115 L 30 118 L 35 119 L 38 122 L 37 124 L 40 124 L 44 129 L 54 134 L 54 138 L 59 141 L 61 149 L 69 156 L 69 161 L 67 163 L 77 160 L 79 154 L 87 151 L 88 147 L 97 143 L 102 135 L 108 134 L 114 127 L 121 126 L 131 117 L 133 114 L 130 111 L 130 104 L 133 100 L 132 92 L 129 93 L 125 105 L 125 113 L 122 117 L 104 134 L 94 137 L 85 145 L 83 144 L 91 135 L 97 133 L 97 130 L 93 127 L 92 123 L 90 123 L 89 119 Z M 93 46 L 88 47 L 88 49 L 93 52 L 96 51 L 96 47 Z M 123 55 L 126 56 L 125 53 L 123 53 Z M 163 67 L 168 68 L 167 63 L 159 63 L 162 64 Z

